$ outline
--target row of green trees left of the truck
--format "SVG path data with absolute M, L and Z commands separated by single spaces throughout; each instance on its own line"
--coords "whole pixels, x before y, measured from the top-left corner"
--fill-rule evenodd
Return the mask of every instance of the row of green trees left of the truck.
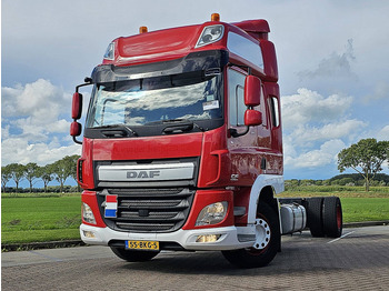
M 63 192 L 63 184 L 69 177 L 77 181 L 77 160 L 79 158 L 80 155 L 78 154 L 67 155 L 43 167 L 34 162 L 29 162 L 28 164 L 10 163 L 1 167 L 2 191 L 6 192 L 7 183 L 13 180 L 16 192 L 18 192 L 19 183 L 22 180 L 27 180 L 30 185 L 30 192 L 32 192 L 33 184 L 40 179 L 43 182 L 44 192 L 47 192 L 49 183 L 53 180 L 60 183 L 60 191 Z

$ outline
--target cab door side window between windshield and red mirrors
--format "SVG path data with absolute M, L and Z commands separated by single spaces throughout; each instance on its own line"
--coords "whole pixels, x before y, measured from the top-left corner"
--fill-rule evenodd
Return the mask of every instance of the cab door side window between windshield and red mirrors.
M 231 126 L 245 126 L 245 79 L 246 76 L 228 70 L 229 116 Z

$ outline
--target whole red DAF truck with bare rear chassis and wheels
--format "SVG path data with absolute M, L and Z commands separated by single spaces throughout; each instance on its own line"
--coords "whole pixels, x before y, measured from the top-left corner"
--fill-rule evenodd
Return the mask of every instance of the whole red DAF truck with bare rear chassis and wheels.
M 280 93 L 266 20 L 211 21 L 114 39 L 76 88 L 81 239 L 121 259 L 222 251 L 267 265 L 281 234 L 340 237 L 339 198 L 280 199 Z M 92 84 L 82 141 L 82 96 Z

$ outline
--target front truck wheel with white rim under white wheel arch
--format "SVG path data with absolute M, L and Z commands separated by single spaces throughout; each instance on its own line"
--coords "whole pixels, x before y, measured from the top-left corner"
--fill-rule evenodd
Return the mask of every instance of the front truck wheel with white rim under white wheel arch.
M 280 249 L 280 228 L 277 213 L 267 203 L 260 203 L 256 219 L 257 241 L 252 248 L 222 251 L 225 258 L 239 268 L 268 265 Z M 262 235 L 260 235 L 262 234 Z

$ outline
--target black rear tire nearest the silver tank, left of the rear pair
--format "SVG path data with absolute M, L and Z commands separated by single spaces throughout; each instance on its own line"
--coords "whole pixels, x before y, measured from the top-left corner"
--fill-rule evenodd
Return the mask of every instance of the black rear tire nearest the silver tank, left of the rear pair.
M 308 220 L 308 227 L 311 232 L 311 235 L 315 238 L 322 238 L 325 237 L 325 230 L 322 225 L 323 198 L 312 197 L 307 200 L 308 200 L 307 220 Z

